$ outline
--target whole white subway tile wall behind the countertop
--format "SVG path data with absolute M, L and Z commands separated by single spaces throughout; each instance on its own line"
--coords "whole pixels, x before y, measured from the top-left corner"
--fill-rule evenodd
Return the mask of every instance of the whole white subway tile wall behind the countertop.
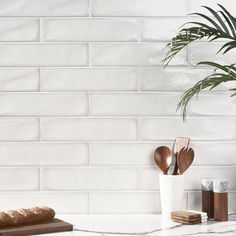
M 188 14 L 217 3 L 236 14 L 234 0 L 1 0 L 0 209 L 158 213 L 153 151 L 189 136 L 185 207 L 200 209 L 201 178 L 227 178 L 235 212 L 235 85 L 193 100 L 187 123 L 176 112 L 212 72 L 197 62 L 235 53 L 202 42 L 161 62 Z

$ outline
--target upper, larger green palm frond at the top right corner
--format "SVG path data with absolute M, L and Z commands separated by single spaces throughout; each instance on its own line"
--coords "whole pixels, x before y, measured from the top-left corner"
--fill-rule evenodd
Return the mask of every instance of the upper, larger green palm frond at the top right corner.
M 213 19 L 202 13 L 192 14 L 200 16 L 206 20 L 207 23 L 188 22 L 183 25 L 177 36 L 172 38 L 166 45 L 168 51 L 162 61 L 164 66 L 167 66 L 171 59 L 188 44 L 203 38 L 206 38 L 208 41 L 217 39 L 229 40 L 229 42 L 226 42 L 218 52 L 224 49 L 223 53 L 226 53 L 236 47 L 236 18 L 234 18 L 223 6 L 220 4 L 218 5 L 221 8 L 218 12 L 210 7 L 204 7 L 213 15 Z M 188 25 L 191 26 L 186 27 Z

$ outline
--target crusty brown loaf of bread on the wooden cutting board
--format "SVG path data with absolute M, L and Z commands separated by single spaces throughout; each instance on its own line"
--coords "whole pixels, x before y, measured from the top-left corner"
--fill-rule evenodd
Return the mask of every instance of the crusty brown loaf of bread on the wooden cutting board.
M 0 212 L 0 227 L 27 225 L 53 219 L 55 211 L 49 207 L 32 207 Z

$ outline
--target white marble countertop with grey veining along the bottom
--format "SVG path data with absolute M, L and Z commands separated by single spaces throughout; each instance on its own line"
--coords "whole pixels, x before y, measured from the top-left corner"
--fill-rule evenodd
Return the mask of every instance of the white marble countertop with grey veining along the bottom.
M 236 214 L 229 221 L 208 221 L 204 224 L 181 225 L 163 219 L 161 215 L 58 215 L 57 218 L 74 225 L 73 232 L 47 234 L 51 236 L 187 236 L 236 235 Z

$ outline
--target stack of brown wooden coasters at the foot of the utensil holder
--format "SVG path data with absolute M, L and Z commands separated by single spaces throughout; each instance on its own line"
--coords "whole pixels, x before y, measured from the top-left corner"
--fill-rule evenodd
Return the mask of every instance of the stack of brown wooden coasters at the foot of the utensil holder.
M 173 211 L 171 212 L 171 219 L 174 222 L 188 225 L 202 223 L 201 214 L 191 211 Z

